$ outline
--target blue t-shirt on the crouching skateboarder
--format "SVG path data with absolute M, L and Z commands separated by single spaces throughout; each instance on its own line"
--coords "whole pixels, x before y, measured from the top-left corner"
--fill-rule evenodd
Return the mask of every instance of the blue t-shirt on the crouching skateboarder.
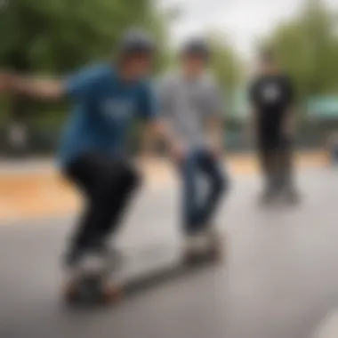
M 157 112 L 147 81 L 124 82 L 109 65 L 70 76 L 66 87 L 75 107 L 61 139 L 61 165 L 87 151 L 124 152 L 133 119 L 151 119 Z

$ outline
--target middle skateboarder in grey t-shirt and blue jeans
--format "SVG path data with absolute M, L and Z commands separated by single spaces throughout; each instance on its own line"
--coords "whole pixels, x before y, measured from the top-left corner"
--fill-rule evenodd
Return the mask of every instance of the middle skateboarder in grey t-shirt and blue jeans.
M 194 254 L 219 243 L 213 215 L 228 187 L 223 170 L 223 101 L 221 91 L 207 72 L 210 51 L 194 39 L 181 50 L 180 68 L 159 85 L 161 114 L 171 133 L 171 150 L 182 182 L 182 221 L 187 253 Z M 206 191 L 200 177 L 207 182 Z

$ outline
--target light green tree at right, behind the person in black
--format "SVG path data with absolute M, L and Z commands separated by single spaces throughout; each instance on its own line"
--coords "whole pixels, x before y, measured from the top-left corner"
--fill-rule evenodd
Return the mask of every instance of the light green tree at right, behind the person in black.
M 300 15 L 274 29 L 268 38 L 299 98 L 338 90 L 338 36 L 334 15 L 322 0 L 308 0 Z

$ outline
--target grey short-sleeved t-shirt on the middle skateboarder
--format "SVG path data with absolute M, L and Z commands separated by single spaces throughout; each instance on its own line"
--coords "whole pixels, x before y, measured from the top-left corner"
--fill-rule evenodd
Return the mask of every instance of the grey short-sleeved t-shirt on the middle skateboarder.
M 221 117 L 223 102 L 218 85 L 210 74 L 197 79 L 179 72 L 165 75 L 160 81 L 159 106 L 175 136 L 187 147 L 205 144 L 207 117 Z

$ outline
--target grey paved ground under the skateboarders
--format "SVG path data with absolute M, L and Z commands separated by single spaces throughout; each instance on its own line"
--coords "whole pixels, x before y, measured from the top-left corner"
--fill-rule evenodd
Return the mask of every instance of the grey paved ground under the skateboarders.
M 0 337 L 310 338 L 338 307 L 338 175 L 304 169 L 299 185 L 301 206 L 262 209 L 259 181 L 237 177 L 221 207 L 227 253 L 220 266 L 101 310 L 60 302 L 70 217 L 0 227 Z M 178 240 L 177 199 L 174 185 L 143 191 L 119 245 L 137 250 Z

